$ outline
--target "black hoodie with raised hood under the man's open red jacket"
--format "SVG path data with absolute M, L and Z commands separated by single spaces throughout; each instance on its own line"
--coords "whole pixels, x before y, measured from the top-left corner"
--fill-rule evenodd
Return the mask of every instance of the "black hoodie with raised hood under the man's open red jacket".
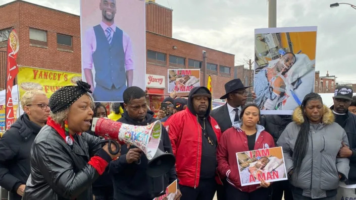
M 198 91 L 205 90 L 206 94 L 210 94 L 210 91 L 206 87 L 195 87 L 193 88 L 188 97 L 188 109 L 189 111 L 197 116 L 197 113 L 193 107 L 193 98 L 192 95 L 196 94 Z M 216 160 L 216 148 L 217 148 L 217 138 L 213 127 L 208 120 L 210 111 L 211 111 L 211 103 L 212 98 L 209 98 L 209 105 L 208 110 L 203 117 L 197 116 L 197 120 L 201 126 L 201 163 L 200 163 L 200 179 L 214 179 L 216 167 L 217 167 L 217 160 Z M 209 140 L 213 143 L 209 143 Z M 215 181 L 215 180 L 214 180 Z

